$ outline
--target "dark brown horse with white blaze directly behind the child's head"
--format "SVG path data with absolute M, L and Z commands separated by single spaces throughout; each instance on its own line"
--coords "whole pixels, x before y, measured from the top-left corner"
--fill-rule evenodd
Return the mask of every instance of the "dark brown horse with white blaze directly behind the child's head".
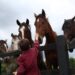
M 16 21 L 18 26 L 19 26 L 19 38 L 20 39 L 25 39 L 27 38 L 30 41 L 31 47 L 33 45 L 33 40 L 32 40 L 32 36 L 31 36 L 31 28 L 29 25 L 29 20 L 27 19 L 26 22 L 22 22 L 20 23 L 19 20 Z

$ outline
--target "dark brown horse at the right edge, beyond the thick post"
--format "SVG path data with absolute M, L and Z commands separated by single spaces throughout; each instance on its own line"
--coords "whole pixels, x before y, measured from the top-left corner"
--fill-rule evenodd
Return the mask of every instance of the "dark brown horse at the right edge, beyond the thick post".
M 64 20 L 62 30 L 67 44 L 71 44 L 75 39 L 75 16 L 71 19 Z M 69 49 L 69 51 L 73 52 L 73 49 Z

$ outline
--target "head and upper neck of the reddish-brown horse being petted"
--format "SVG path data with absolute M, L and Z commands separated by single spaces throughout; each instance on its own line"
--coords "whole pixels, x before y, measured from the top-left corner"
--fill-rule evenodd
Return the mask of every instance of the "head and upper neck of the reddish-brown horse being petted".
M 36 32 L 39 33 L 39 35 L 40 35 L 40 37 L 39 37 L 40 43 L 42 43 L 42 39 L 44 36 L 47 38 L 51 37 L 52 39 L 55 38 L 54 37 L 55 32 L 52 30 L 52 28 L 48 22 L 48 18 L 46 18 L 45 11 L 42 9 L 41 14 L 39 14 L 39 15 L 34 14 L 34 16 L 35 16 L 35 23 L 34 24 L 36 27 Z

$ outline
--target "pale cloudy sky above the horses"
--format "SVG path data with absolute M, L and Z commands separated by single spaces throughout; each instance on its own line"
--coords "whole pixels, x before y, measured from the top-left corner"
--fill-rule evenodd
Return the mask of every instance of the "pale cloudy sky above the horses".
M 64 19 L 75 16 L 75 0 L 0 0 L 0 39 L 7 39 L 10 45 L 11 33 L 18 34 L 16 20 L 24 22 L 27 18 L 34 39 L 34 13 L 39 14 L 42 9 L 45 10 L 49 23 L 57 35 L 63 35 Z M 75 52 L 70 55 L 74 56 Z

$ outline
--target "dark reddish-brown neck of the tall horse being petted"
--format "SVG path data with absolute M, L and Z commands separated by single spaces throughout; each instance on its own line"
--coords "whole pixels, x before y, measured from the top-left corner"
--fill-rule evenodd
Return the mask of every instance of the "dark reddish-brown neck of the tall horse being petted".
M 49 25 L 48 27 L 48 33 L 46 33 L 45 37 L 46 37 L 46 44 L 50 44 L 50 43 L 53 43 L 55 42 L 55 34 L 54 34 L 54 31 L 52 30 L 51 26 Z

